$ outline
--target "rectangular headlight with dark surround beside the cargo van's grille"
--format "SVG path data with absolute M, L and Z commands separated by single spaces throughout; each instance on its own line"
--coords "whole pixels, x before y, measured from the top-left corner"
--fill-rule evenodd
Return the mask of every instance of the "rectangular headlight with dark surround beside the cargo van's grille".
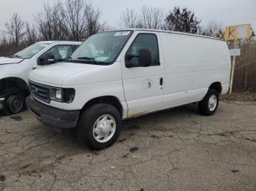
M 50 89 L 50 100 L 71 103 L 75 98 L 75 89 L 73 88 L 56 88 Z

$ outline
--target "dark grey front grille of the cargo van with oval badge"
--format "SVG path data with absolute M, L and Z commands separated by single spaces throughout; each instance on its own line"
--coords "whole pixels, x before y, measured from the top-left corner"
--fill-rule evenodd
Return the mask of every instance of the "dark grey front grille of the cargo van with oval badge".
M 50 103 L 50 87 L 29 81 L 31 95 L 39 100 Z

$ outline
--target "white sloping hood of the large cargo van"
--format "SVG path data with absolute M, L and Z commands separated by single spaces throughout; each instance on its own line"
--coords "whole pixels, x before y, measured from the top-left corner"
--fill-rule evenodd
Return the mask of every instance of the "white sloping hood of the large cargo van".
M 85 63 L 55 63 L 43 66 L 30 72 L 29 79 L 36 82 L 45 82 L 51 85 L 62 85 L 64 79 L 83 71 L 97 69 L 102 66 Z

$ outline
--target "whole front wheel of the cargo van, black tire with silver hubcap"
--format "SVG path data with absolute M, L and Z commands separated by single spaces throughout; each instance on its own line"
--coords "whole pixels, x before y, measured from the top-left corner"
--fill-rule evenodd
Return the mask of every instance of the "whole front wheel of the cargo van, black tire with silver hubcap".
M 121 131 L 121 114 L 108 104 L 95 104 L 86 109 L 78 122 L 78 138 L 90 149 L 110 147 Z

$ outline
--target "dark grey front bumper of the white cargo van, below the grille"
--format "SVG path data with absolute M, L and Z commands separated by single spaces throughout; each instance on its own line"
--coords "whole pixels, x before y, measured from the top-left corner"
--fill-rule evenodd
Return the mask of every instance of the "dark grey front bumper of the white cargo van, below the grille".
M 78 124 L 79 110 L 56 109 L 42 104 L 31 95 L 26 98 L 26 105 L 39 121 L 53 128 L 75 128 Z

